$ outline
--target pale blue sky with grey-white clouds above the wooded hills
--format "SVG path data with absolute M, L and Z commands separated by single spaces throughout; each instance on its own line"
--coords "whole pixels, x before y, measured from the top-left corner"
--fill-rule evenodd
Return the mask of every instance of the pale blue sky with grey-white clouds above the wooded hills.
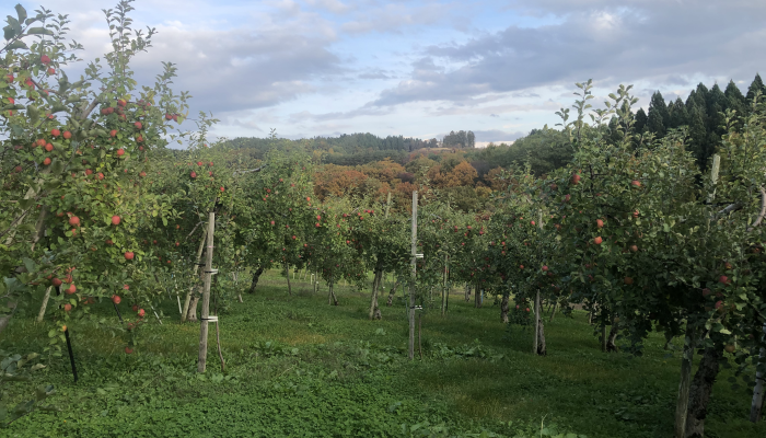
M 13 11 L 8 4 L 7 14 Z M 23 1 L 32 11 L 38 3 Z M 77 7 L 76 7 L 77 4 Z M 92 59 L 108 50 L 103 8 L 53 0 Z M 697 83 L 743 90 L 766 68 L 763 0 L 137 0 L 135 27 L 158 30 L 136 60 L 152 80 L 178 66 L 193 114 L 225 137 L 351 132 L 513 140 L 557 123 L 573 83 L 594 102 L 620 83 L 639 105 Z M 192 128 L 192 126 L 188 126 Z

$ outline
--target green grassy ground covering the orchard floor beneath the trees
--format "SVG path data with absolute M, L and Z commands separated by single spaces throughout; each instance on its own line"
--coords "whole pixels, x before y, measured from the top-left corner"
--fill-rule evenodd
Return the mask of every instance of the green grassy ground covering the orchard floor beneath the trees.
M 163 325 L 150 319 L 140 328 L 143 344 L 130 356 L 123 353 L 124 334 L 70 324 L 80 382 L 71 383 L 65 357 L 35 382 L 13 387 L 19 396 L 32 393 L 33 384 L 53 383 L 58 393 L 51 402 L 62 411 L 24 417 L 0 436 L 401 437 L 486 430 L 513 437 L 541 436 L 541 422 L 558 425 L 542 436 L 673 435 L 680 358 L 666 357 L 659 336 L 640 358 L 602 354 L 585 314 L 574 312 L 573 319 L 557 315 L 546 323 L 548 356 L 535 357 L 531 331 L 509 331 L 491 300 L 474 309 L 455 290 L 446 318 L 438 311 L 423 315 L 425 358 L 410 362 L 401 291 L 374 322 L 367 320 L 368 293 L 344 287 L 336 293 L 340 306 L 330 307 L 326 288 L 313 295 L 309 284 L 295 280 L 288 297 L 285 278 L 267 273 L 255 295 L 221 315 L 225 372 L 211 326 L 204 377 L 195 373 L 199 326 L 178 324 L 175 302 L 162 309 L 172 315 Z M 95 306 L 114 314 L 106 302 Z M 0 348 L 42 351 L 49 328 L 18 318 Z M 734 392 L 728 377 L 726 370 L 715 387 L 707 436 L 764 436 L 764 424 L 746 420 L 748 394 Z M 418 435 L 423 430 L 432 435 Z

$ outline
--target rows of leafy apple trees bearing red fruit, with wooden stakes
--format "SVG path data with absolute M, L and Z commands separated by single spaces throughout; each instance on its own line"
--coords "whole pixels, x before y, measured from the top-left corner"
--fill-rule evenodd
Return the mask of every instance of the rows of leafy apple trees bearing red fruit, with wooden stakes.
M 291 273 L 304 272 L 316 279 L 315 292 L 322 285 L 328 306 L 344 304 L 335 290 L 341 283 L 368 290 L 371 324 L 385 318 L 383 301 L 391 306 L 402 286 L 410 313 L 418 308 L 442 318 L 450 318 L 455 286 L 466 288 L 466 299 L 473 291 L 477 307 L 497 296 L 499 321 L 532 330 L 532 355 L 556 349 L 546 344 L 546 306 L 566 316 L 574 308 L 588 312 L 603 354 L 641 356 L 652 333 L 682 338 L 676 436 L 701 436 L 712 382 L 724 366 L 739 370 L 759 415 L 766 366 L 762 96 L 746 114 L 724 115 L 727 134 L 700 170 L 685 129 L 661 140 L 634 130 L 630 87 L 591 111 L 591 82 L 578 84 L 577 114 L 557 113 L 573 150 L 570 162 L 545 175 L 506 169 L 507 188 L 494 192 L 490 209 L 472 214 L 419 180 L 413 238 L 409 199 L 392 200 L 391 193 L 315 198 L 313 175 L 322 162 L 306 148 L 272 136 L 258 160 L 209 139 L 217 120 L 189 115 L 189 95 L 171 88 L 179 73 L 173 64 L 163 62 L 154 83 L 138 83 L 130 65 L 151 49 L 155 32 L 132 30 L 131 9 L 121 1 L 106 11 L 113 49 L 86 61 L 79 78 L 67 76 L 82 47 L 66 38 L 66 16 L 27 15 L 19 5 L 4 27 L 0 333 L 22 313 L 48 335 L 43 350 L 0 351 L 8 376 L 70 360 L 68 344 L 86 344 L 94 331 L 113 333 L 124 354 L 140 360 L 143 328 L 163 320 L 199 324 L 197 366 L 205 372 L 216 356 L 208 353 L 208 326 L 219 325 L 211 287 L 242 285 L 217 298 L 237 306 L 263 273 L 277 269 L 286 274 L 285 293 L 292 296 Z M 182 130 L 186 119 L 197 130 Z M 616 124 L 607 126 L 610 119 Z M 185 148 L 170 149 L 173 142 Z M 396 279 L 388 297 L 385 276 Z M 179 315 L 159 310 L 169 300 Z M 114 311 L 96 315 L 95 306 Z M 196 332 L 189 342 L 197 342 Z M 44 408 L 50 394 L 48 387 L 16 411 L 0 402 L 0 416 L 12 422 Z

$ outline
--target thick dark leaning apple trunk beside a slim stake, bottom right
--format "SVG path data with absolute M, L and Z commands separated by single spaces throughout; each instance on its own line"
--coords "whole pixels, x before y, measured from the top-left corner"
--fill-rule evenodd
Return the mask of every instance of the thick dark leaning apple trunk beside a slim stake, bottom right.
M 708 402 L 719 371 L 718 361 L 722 357 L 723 353 L 720 349 L 716 347 L 705 348 L 705 354 L 699 361 L 699 368 L 694 374 L 689 389 L 686 438 L 703 438 L 705 436 Z

